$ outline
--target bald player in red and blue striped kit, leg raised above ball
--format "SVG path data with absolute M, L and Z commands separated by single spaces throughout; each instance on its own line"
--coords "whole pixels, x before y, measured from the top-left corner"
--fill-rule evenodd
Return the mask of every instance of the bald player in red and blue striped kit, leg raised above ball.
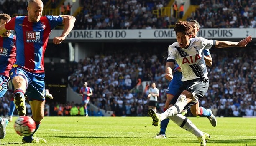
M 12 18 L 0 26 L 0 34 L 7 30 L 15 30 L 17 56 L 10 71 L 14 86 L 14 103 L 19 116 L 26 115 L 26 93 L 31 105 L 32 118 L 36 122 L 36 130 L 44 118 L 45 84 L 44 84 L 44 52 L 51 30 L 64 24 L 64 30 L 59 37 L 54 37 L 54 44 L 60 44 L 74 27 L 73 16 L 42 16 L 43 2 L 28 1 L 28 16 Z M 34 132 L 34 133 L 35 133 Z M 34 134 L 33 133 L 33 134 Z M 25 136 L 23 143 L 47 143 L 45 139 Z

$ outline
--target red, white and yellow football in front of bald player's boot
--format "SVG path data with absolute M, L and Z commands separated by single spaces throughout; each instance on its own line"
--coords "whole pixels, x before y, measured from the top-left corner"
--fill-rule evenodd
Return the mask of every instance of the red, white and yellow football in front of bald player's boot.
M 29 136 L 35 131 L 36 123 L 29 116 L 20 116 L 14 123 L 14 129 L 20 136 Z

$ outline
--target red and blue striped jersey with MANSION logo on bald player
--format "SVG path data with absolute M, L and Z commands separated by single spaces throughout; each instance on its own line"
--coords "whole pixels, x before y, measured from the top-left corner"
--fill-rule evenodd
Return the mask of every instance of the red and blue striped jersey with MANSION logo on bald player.
M 42 16 L 38 22 L 29 22 L 27 16 L 12 18 L 5 28 L 15 30 L 17 57 L 13 65 L 28 72 L 44 72 L 44 52 L 51 30 L 62 24 L 61 16 Z

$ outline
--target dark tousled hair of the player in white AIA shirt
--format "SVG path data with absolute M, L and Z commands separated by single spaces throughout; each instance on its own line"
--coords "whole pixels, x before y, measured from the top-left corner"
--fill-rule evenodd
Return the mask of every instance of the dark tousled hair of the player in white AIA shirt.
M 174 32 L 182 32 L 185 35 L 190 35 L 192 33 L 193 27 L 189 25 L 187 21 L 178 21 L 175 24 Z

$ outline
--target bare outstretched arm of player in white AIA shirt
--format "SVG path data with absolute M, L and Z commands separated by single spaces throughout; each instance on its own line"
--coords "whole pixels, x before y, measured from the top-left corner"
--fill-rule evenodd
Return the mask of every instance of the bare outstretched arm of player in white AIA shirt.
M 216 40 L 216 48 L 225 48 L 225 47 L 246 47 L 249 42 L 251 42 L 251 36 L 246 37 L 240 42 L 231 42 L 231 41 L 217 41 Z

